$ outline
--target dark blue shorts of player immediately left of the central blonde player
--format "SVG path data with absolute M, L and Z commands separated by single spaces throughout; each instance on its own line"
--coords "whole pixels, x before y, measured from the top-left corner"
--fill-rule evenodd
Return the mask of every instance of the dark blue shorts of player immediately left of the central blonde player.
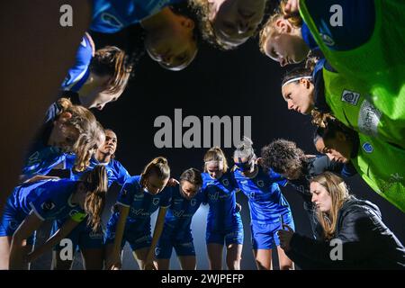
M 193 235 L 190 228 L 185 231 L 178 231 L 165 225 L 155 248 L 155 256 L 157 259 L 169 259 L 172 256 L 173 248 L 175 248 L 177 257 L 195 256 Z

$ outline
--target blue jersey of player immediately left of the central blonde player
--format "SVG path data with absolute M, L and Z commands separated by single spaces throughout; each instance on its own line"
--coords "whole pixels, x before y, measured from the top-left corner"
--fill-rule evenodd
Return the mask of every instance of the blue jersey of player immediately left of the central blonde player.
M 175 234 L 188 232 L 193 215 L 202 202 L 205 202 L 205 197 L 201 190 L 188 200 L 180 192 L 180 185 L 175 185 L 172 191 L 172 202 L 166 213 L 165 227 L 170 228 Z

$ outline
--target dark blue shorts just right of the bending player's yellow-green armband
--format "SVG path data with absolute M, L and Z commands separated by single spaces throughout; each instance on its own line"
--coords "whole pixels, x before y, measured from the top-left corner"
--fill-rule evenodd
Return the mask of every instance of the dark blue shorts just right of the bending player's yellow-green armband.
M 52 227 L 52 234 L 62 227 L 64 221 L 55 220 Z M 87 225 L 87 218 L 80 222 L 75 229 L 73 229 L 67 237 L 72 241 L 73 247 L 80 250 L 85 249 L 103 249 L 104 246 L 104 233 L 100 227 L 95 232 L 91 227 Z M 59 251 L 64 246 L 57 245 L 54 247 L 56 251 Z

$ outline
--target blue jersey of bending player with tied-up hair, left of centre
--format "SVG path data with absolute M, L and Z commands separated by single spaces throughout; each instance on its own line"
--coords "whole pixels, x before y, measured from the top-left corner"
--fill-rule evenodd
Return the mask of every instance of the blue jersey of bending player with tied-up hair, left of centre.
M 127 224 L 132 229 L 145 229 L 150 223 L 150 215 L 159 207 L 169 207 L 172 200 L 173 187 L 166 187 L 160 193 L 152 195 L 140 185 L 140 175 L 128 178 L 118 195 L 117 203 L 130 207 Z M 119 219 L 119 212 L 112 214 L 110 222 Z

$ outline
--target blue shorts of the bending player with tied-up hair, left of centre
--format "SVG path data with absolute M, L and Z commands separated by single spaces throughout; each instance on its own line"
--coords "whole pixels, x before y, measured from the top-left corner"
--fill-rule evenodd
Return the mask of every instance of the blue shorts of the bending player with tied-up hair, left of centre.
M 105 245 L 114 243 L 115 228 L 115 223 L 112 224 L 111 222 L 108 222 L 104 238 Z M 148 229 L 139 229 L 139 227 L 131 227 L 127 223 L 122 235 L 121 248 L 125 246 L 126 242 L 130 244 L 132 251 L 136 251 L 144 247 L 150 247 L 152 244 L 152 237 L 150 234 L 150 225 L 148 226 Z

